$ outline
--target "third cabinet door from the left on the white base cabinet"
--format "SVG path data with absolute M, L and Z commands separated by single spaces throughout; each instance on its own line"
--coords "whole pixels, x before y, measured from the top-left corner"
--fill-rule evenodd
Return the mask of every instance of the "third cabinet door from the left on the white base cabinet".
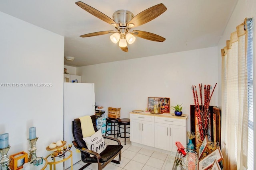
M 155 147 L 170 150 L 170 128 L 168 124 L 155 123 Z

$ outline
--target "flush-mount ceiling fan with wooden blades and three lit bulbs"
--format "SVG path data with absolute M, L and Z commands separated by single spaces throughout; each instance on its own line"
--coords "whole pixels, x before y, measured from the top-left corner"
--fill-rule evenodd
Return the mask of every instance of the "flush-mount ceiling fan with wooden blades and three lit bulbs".
M 151 20 L 154 20 L 156 17 L 164 13 L 167 10 L 167 8 L 162 3 L 150 7 L 140 12 L 136 16 L 134 16 L 132 12 L 128 10 L 118 10 L 114 12 L 113 20 L 108 16 L 106 16 L 105 14 L 103 14 L 102 12 L 96 10 L 95 8 L 92 8 L 91 6 L 85 4 L 84 2 L 79 1 L 79 2 L 76 2 L 76 4 L 80 6 L 82 9 L 89 12 L 90 14 L 96 16 L 100 20 L 103 20 L 113 25 L 116 28 L 116 31 L 113 31 L 113 30 L 99 31 L 99 32 L 80 35 L 80 37 L 92 37 L 92 36 L 112 33 L 112 35 L 110 36 L 111 41 L 113 43 L 118 43 L 119 41 L 119 47 L 124 52 L 128 52 L 127 43 L 128 44 L 134 43 L 136 37 L 144 38 L 151 41 L 158 41 L 158 42 L 163 42 L 165 40 L 164 37 L 161 37 L 160 35 L 156 35 L 154 33 L 149 33 L 146 31 L 139 31 L 139 30 L 130 31 L 130 29 L 134 27 L 138 27 Z

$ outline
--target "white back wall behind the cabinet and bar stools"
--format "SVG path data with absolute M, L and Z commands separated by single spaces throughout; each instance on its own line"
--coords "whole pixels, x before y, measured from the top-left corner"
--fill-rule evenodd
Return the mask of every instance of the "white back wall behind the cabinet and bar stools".
M 121 107 L 121 118 L 130 117 L 133 109 L 145 110 L 148 97 L 168 97 L 171 106 L 183 104 L 183 113 L 190 115 L 190 105 L 194 104 L 191 86 L 218 82 L 216 57 L 217 47 L 211 47 L 82 66 L 77 73 L 82 75 L 82 82 L 95 83 L 97 105 L 106 110 Z M 214 106 L 218 104 L 218 84 L 215 90 L 210 103 Z

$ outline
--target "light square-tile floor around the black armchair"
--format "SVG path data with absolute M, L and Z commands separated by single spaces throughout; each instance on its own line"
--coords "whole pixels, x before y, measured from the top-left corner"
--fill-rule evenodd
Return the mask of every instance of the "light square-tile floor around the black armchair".
M 126 145 L 124 145 L 124 139 L 118 138 L 121 144 L 124 146 L 122 149 L 122 158 L 120 164 L 110 162 L 104 167 L 104 170 L 164 170 L 166 164 L 169 164 L 169 155 L 162 152 L 156 152 L 154 150 L 144 149 L 141 147 L 132 146 L 130 138 L 126 139 Z M 106 145 L 114 144 L 109 139 L 105 139 Z M 118 157 L 115 158 L 118 160 Z M 73 170 L 78 170 L 85 163 L 80 161 L 73 165 Z M 84 170 L 97 170 L 97 164 L 90 164 Z M 171 168 L 170 168 L 171 169 Z M 70 168 L 66 169 L 70 170 Z

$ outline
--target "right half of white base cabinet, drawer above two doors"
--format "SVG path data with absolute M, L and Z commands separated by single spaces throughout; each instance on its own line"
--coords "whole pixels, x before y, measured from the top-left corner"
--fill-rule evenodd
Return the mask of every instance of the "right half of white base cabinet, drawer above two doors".
M 155 147 L 169 150 L 179 141 L 186 147 L 186 119 L 155 117 Z

